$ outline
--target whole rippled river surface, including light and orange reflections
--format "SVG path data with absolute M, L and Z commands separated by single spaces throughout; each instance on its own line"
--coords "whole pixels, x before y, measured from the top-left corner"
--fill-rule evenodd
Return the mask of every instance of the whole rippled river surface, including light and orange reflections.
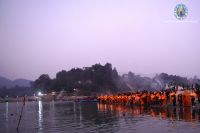
M 0 133 L 15 133 L 22 103 L 0 103 Z M 200 111 L 73 102 L 28 102 L 19 133 L 198 133 Z

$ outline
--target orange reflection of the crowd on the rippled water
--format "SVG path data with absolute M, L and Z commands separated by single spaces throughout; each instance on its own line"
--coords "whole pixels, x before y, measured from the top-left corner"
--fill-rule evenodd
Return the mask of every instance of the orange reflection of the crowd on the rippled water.
M 116 112 L 120 116 L 132 114 L 133 116 L 148 115 L 151 117 L 158 117 L 161 119 L 169 119 L 174 121 L 195 122 L 200 121 L 200 110 L 191 107 L 127 107 L 113 104 L 98 104 L 98 110 L 107 112 Z

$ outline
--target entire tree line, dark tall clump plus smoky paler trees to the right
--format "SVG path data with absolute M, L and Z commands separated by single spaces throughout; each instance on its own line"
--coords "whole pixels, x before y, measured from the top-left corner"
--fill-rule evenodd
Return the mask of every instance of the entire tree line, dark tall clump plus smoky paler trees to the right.
M 48 74 L 42 74 L 32 83 L 32 88 L 43 92 L 61 91 L 77 93 L 79 95 L 96 95 L 100 93 L 118 93 L 137 90 L 161 90 L 166 84 L 199 88 L 200 80 L 197 77 L 168 75 L 161 73 L 153 78 L 142 77 L 129 72 L 120 76 L 110 63 L 95 64 L 91 67 L 62 70 L 51 79 Z

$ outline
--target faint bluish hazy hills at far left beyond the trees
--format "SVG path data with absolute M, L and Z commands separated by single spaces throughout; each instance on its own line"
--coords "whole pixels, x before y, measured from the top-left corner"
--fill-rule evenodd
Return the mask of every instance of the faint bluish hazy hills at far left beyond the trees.
M 31 80 L 27 79 L 16 79 L 10 80 L 5 77 L 0 77 L 0 87 L 12 88 L 15 86 L 19 87 L 30 87 Z

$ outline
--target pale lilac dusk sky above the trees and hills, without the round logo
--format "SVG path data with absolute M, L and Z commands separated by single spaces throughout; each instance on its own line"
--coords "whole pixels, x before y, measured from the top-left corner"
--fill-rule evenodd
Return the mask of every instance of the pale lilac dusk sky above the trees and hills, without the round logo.
M 184 3 L 188 17 L 177 20 Z M 199 0 L 0 0 L 0 76 L 54 78 L 110 62 L 120 74 L 200 76 Z

